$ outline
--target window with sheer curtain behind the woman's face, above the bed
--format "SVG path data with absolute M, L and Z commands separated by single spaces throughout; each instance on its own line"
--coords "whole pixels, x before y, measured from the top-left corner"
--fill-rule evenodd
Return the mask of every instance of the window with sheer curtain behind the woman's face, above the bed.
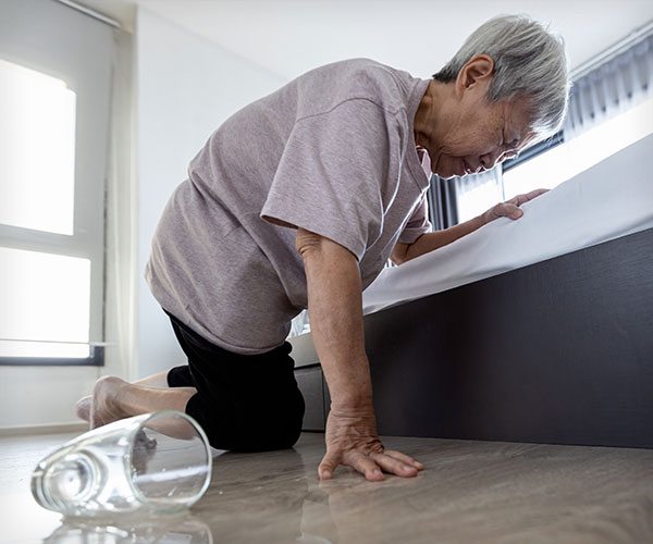
M 552 189 L 653 133 L 652 65 L 650 25 L 587 65 L 575 78 L 564 128 L 551 141 L 506 161 L 498 180 L 447 181 L 459 221 L 516 195 Z

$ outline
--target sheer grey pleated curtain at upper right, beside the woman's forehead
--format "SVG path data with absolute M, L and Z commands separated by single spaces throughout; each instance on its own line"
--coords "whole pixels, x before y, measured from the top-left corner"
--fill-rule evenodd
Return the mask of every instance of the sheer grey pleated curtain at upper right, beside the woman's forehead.
M 564 124 L 565 140 L 651 98 L 653 36 L 574 82 Z

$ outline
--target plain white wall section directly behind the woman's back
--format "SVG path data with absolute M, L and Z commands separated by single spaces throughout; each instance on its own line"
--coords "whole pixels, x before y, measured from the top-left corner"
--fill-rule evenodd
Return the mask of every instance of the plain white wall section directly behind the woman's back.
M 190 159 L 232 113 L 286 83 L 239 55 L 139 8 L 136 21 L 138 354 L 144 376 L 185 361 L 143 279 L 150 240 Z M 134 372 L 133 372 L 134 373 Z

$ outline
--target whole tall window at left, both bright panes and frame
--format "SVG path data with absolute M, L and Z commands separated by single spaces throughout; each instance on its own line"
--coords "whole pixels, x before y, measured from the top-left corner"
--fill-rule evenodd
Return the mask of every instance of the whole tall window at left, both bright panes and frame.
M 2 10 L 0 363 L 101 364 L 112 32 L 58 2 Z

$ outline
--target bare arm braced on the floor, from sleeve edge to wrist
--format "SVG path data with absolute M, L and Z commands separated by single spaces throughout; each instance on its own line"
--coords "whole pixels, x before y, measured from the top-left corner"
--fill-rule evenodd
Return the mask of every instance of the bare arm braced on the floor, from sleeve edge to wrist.
M 312 240 L 300 252 L 311 333 L 332 409 L 369 411 L 372 386 L 365 354 L 358 262 L 347 249 L 326 238 Z

